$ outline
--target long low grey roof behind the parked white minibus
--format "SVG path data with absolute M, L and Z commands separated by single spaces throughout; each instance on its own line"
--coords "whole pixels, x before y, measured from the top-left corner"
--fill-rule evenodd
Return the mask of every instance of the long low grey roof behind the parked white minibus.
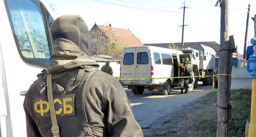
M 148 43 L 148 44 L 144 44 L 144 45 L 154 45 L 156 47 L 162 47 L 162 48 L 168 48 L 169 44 L 172 43 Z M 182 45 L 182 43 L 174 43 L 176 44 L 177 47 L 180 47 Z M 212 49 L 214 49 L 216 52 L 218 52 L 220 50 L 220 45 L 214 41 L 209 41 L 209 42 L 184 42 L 184 45 L 197 45 L 197 44 L 203 44 L 203 45 L 207 45 L 208 47 L 211 47 Z

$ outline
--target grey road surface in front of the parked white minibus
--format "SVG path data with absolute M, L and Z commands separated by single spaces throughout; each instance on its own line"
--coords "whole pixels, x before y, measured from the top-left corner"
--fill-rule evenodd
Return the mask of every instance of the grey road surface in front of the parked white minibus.
M 179 88 L 172 88 L 172 92 L 165 96 L 159 95 L 157 90 L 145 90 L 142 95 L 134 95 L 131 89 L 125 87 L 124 89 L 132 105 L 135 119 L 141 127 L 147 127 L 143 128 L 145 136 L 168 130 L 164 123 L 175 122 L 173 118 L 175 113 L 177 114 L 179 111 L 186 109 L 186 104 L 213 90 L 212 85 L 203 86 L 199 84 L 193 92 L 188 94 L 180 94 Z

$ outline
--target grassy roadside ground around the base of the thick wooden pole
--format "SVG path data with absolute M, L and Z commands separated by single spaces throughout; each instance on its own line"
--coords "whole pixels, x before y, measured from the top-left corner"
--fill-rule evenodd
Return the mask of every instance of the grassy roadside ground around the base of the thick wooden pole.
M 231 119 L 228 136 L 244 136 L 250 115 L 251 90 L 231 90 Z M 178 122 L 169 123 L 169 131 L 154 136 L 217 136 L 217 91 L 210 92 L 177 114 Z

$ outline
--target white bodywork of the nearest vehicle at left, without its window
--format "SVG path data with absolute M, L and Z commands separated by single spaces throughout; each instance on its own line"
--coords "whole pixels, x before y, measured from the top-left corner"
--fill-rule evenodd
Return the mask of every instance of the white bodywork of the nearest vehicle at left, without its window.
M 0 1 L 0 136 L 27 136 L 24 95 L 43 68 L 20 57 L 4 2 Z

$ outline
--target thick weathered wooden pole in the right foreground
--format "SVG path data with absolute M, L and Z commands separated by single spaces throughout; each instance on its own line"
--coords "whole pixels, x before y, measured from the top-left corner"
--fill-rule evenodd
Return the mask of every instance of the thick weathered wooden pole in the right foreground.
M 221 36 L 220 36 L 220 55 L 219 55 L 219 78 L 218 78 L 218 127 L 217 136 L 228 136 L 228 119 L 231 116 L 230 110 L 230 84 L 231 66 L 230 57 L 232 53 L 229 48 L 228 37 L 228 14 L 229 0 L 221 3 Z M 231 54 L 231 55 L 230 55 Z

